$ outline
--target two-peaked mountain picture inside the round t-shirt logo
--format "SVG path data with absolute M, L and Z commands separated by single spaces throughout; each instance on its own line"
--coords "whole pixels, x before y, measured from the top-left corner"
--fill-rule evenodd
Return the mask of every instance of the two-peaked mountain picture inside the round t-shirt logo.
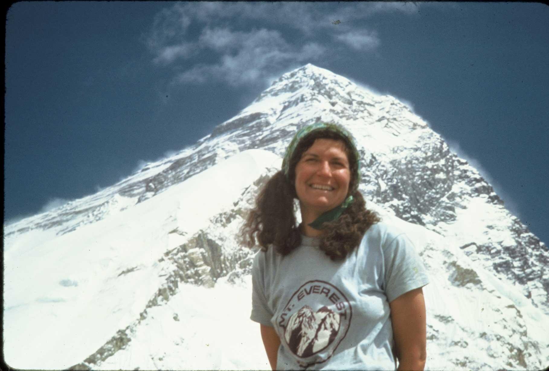
M 296 355 L 309 357 L 334 341 L 339 324 L 339 314 L 328 307 L 323 306 L 315 313 L 305 305 L 289 318 L 284 338 Z

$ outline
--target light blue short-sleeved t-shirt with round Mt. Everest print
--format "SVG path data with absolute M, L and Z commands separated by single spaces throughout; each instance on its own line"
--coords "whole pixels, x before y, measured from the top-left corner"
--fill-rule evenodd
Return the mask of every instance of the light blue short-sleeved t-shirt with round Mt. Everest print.
M 286 256 L 254 258 L 250 318 L 281 339 L 277 369 L 395 370 L 389 302 L 429 283 L 410 239 L 380 222 L 332 261 L 301 238 Z

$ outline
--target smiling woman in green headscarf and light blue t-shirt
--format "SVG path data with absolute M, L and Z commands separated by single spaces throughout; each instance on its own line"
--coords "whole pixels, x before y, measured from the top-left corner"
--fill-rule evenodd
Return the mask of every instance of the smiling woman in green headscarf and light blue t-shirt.
M 273 370 L 425 366 L 429 281 L 406 235 L 365 208 L 359 158 L 343 127 L 302 128 L 244 225 L 262 248 L 251 319 Z

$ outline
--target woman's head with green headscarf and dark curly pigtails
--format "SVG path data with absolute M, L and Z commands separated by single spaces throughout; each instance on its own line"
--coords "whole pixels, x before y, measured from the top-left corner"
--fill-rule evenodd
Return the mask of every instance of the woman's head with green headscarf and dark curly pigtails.
M 344 258 L 360 243 L 369 226 L 379 221 L 358 192 L 360 161 L 351 134 L 343 127 L 316 123 L 296 133 L 276 173 L 257 197 L 244 234 L 266 249 L 273 244 L 282 255 L 299 246 L 301 233 L 319 237 L 332 260 Z M 328 186 L 330 190 L 320 190 Z M 315 187 L 315 188 L 313 188 Z M 332 190 L 333 188 L 333 190 Z M 300 196 L 301 194 L 301 196 Z M 294 199 L 300 201 L 296 226 Z

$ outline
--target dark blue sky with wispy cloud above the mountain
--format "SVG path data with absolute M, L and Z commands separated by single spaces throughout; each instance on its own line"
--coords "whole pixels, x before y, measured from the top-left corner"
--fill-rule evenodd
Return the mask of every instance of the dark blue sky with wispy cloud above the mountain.
M 20 2 L 6 25 L 5 221 L 194 143 L 312 63 L 410 103 L 549 242 L 544 4 Z

